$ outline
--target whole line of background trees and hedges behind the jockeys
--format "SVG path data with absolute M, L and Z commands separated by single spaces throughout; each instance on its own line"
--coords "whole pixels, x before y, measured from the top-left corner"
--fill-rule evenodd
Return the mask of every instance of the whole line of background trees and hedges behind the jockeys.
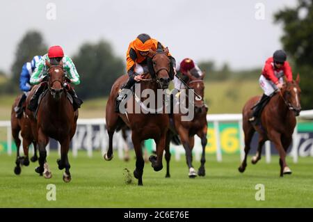
M 275 22 L 281 23 L 284 34 L 281 42 L 291 61 L 294 78 L 300 73 L 303 109 L 313 109 L 313 0 L 298 0 L 295 8 L 284 8 L 274 15 Z M 47 53 L 47 44 L 38 31 L 28 31 L 20 40 L 15 51 L 15 60 L 8 77 L 0 70 L 0 93 L 19 92 L 19 74 L 22 65 L 31 61 L 34 55 Z M 126 50 L 126 49 L 125 49 Z M 125 58 L 115 55 L 109 42 L 86 42 L 71 56 L 81 75 L 81 84 L 75 90 L 83 99 L 109 95 L 115 79 L 126 73 Z M 214 61 L 198 63 L 207 73 L 207 81 L 226 81 L 227 79 L 257 79 L 262 68 L 234 71 L 225 63 L 216 68 Z M 257 82 L 256 82 L 257 84 Z

